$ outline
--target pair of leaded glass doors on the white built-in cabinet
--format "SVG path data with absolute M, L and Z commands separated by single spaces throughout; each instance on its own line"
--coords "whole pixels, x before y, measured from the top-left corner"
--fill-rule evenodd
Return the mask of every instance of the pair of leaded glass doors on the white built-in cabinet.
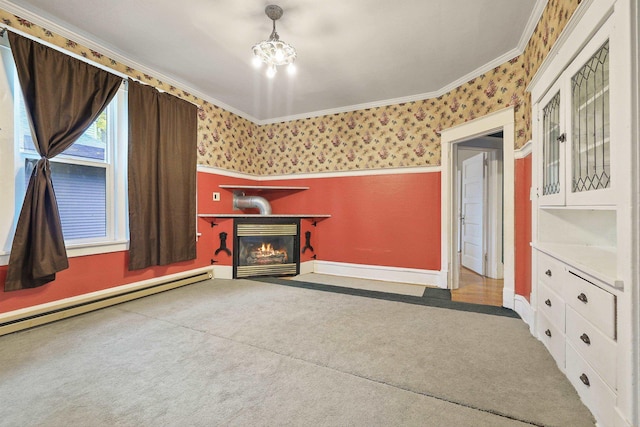
M 609 35 L 607 22 L 538 102 L 541 206 L 611 205 Z

